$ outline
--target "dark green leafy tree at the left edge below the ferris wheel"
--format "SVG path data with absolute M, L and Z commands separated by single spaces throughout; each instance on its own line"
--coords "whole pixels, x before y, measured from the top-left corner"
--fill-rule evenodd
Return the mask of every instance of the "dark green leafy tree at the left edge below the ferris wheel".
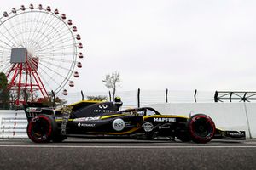
M 0 108 L 9 109 L 8 79 L 3 72 L 0 72 Z

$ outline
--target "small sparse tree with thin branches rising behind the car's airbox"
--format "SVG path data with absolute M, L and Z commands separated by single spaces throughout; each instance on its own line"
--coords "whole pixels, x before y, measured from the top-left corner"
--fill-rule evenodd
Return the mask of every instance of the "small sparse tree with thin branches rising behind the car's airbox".
M 114 99 L 116 88 L 120 86 L 119 82 L 121 82 L 120 73 L 114 71 L 113 73 L 106 75 L 102 82 L 105 82 L 106 88 L 113 89 L 112 99 Z

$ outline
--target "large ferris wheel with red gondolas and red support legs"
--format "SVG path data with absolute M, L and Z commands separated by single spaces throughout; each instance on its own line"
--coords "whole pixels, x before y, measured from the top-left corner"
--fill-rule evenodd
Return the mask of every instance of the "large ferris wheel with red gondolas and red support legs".
M 83 44 L 66 14 L 41 4 L 21 5 L 0 18 L 0 72 L 9 80 L 15 104 L 47 99 L 49 92 L 67 95 L 79 77 Z M 24 94 L 26 92 L 26 96 Z

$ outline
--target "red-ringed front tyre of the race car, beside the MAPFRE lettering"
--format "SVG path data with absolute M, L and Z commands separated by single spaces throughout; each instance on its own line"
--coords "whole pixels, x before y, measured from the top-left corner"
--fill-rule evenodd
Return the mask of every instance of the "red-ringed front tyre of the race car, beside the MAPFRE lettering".
M 189 136 L 195 143 L 207 143 L 215 133 L 215 124 L 211 117 L 204 114 L 191 116 L 188 121 Z

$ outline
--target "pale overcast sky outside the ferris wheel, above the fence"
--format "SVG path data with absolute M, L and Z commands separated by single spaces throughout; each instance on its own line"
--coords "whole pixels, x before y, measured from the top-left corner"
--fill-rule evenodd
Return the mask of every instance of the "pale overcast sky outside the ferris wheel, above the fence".
M 104 91 L 104 76 L 121 74 L 119 90 L 256 90 L 256 1 L 3 1 L 58 8 L 78 27 L 83 69 L 73 91 Z

